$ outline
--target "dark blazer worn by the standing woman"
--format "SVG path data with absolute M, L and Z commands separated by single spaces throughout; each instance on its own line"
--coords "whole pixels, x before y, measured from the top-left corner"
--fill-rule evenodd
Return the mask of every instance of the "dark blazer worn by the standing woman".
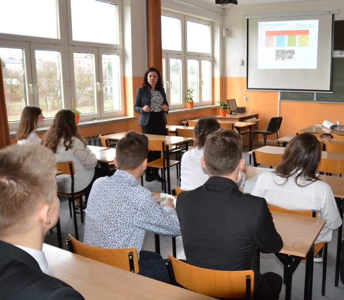
M 168 106 L 165 90 L 162 88 L 159 91 L 163 98 L 162 104 L 165 104 Z M 146 105 L 150 107 L 150 90 L 148 87 L 142 86 L 137 89 L 135 103 L 134 103 L 135 112 L 140 114 L 139 123 L 138 123 L 140 126 L 147 126 L 148 121 L 149 121 L 150 113 L 146 113 L 142 110 Z M 167 120 L 165 117 L 167 113 L 168 111 L 164 112 L 161 110 L 162 120 L 165 124 L 167 123 Z

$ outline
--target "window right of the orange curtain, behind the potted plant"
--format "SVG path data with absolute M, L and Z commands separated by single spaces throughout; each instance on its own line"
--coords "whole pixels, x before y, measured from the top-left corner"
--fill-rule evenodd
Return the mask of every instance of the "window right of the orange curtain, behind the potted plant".
M 212 103 L 211 22 L 163 12 L 161 16 L 162 69 L 169 105 L 186 107 L 188 88 L 197 105 Z

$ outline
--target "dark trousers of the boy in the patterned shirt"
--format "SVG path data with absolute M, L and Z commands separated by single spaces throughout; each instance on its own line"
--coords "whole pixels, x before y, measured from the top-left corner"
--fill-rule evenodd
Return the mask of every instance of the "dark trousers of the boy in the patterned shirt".
M 139 274 L 142 276 L 169 283 L 165 261 L 156 252 L 141 250 L 139 269 Z

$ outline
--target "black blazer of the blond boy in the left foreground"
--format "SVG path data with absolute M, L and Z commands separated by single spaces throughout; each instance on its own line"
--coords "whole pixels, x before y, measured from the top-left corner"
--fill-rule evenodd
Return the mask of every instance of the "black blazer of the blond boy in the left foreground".
M 0 299 L 56 300 L 83 297 L 65 282 L 43 273 L 30 254 L 0 241 Z

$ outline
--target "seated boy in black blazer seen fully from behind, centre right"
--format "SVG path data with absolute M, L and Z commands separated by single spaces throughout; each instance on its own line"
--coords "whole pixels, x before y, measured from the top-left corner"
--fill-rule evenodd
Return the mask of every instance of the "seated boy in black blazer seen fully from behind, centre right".
M 260 274 L 255 248 L 276 253 L 283 241 L 265 199 L 238 189 L 241 155 L 242 137 L 233 130 L 220 129 L 207 138 L 201 161 L 210 177 L 202 186 L 182 192 L 177 201 L 186 259 L 207 269 L 251 269 L 254 298 L 278 299 L 282 277 Z

